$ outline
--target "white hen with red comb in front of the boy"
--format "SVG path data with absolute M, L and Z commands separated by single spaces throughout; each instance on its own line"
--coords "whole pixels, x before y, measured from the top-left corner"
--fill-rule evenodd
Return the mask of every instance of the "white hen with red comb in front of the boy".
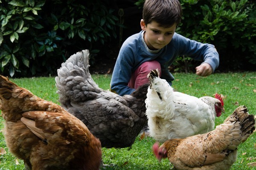
M 173 91 L 165 79 L 159 78 L 158 70 L 151 71 L 148 79 L 146 115 L 150 136 L 158 142 L 207 133 L 214 129 L 215 116 L 224 112 L 218 94 L 215 98 L 197 98 Z

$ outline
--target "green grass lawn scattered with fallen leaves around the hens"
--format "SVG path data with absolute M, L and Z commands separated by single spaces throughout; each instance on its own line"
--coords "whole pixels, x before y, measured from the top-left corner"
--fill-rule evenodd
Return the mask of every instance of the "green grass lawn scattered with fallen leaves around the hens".
M 246 105 L 249 113 L 256 115 L 256 72 L 213 74 L 209 77 L 198 77 L 195 74 L 174 74 L 173 87 L 180 92 L 201 97 L 212 96 L 216 92 L 223 94 L 226 113 L 215 119 L 215 124 L 221 124 L 238 105 Z M 92 75 L 100 88 L 109 89 L 111 75 Z M 20 87 L 27 88 L 33 94 L 58 103 L 54 77 L 11 79 Z M 0 130 L 3 129 L 3 118 L 0 117 Z M 151 147 L 155 140 L 151 137 L 140 140 L 137 137 L 131 148 L 106 149 L 102 148 L 102 159 L 106 167 L 104 170 L 170 170 L 172 165 L 167 159 L 160 163 L 155 159 Z M 0 170 L 23 170 L 23 161 L 16 159 L 9 153 L 0 132 Z M 247 166 L 256 162 L 256 133 L 246 142 L 239 145 L 238 158 L 232 170 L 256 170 Z

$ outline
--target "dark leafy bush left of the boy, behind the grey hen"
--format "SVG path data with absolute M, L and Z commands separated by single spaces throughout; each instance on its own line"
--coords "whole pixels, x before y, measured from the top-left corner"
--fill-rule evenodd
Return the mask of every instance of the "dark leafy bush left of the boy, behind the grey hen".
M 116 38 L 118 18 L 101 0 L 1 0 L 1 74 L 56 74 L 81 49 L 96 54 Z

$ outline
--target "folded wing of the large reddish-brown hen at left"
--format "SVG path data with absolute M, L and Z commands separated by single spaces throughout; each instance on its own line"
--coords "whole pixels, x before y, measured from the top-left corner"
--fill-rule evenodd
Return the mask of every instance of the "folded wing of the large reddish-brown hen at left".
M 32 133 L 52 145 L 81 144 L 90 138 L 87 127 L 65 112 L 30 111 L 23 113 L 23 116 L 21 121 Z

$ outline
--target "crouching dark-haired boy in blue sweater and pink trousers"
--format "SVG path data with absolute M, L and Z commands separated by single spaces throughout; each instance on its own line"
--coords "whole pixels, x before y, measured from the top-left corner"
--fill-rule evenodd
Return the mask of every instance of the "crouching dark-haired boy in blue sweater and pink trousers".
M 218 67 L 214 45 L 189 40 L 175 33 L 182 8 L 178 0 L 146 0 L 142 31 L 128 37 L 120 48 L 111 79 L 111 91 L 123 96 L 148 82 L 150 70 L 158 68 L 160 77 L 170 85 L 174 77 L 168 67 L 179 55 L 204 61 L 196 74 L 209 76 Z

